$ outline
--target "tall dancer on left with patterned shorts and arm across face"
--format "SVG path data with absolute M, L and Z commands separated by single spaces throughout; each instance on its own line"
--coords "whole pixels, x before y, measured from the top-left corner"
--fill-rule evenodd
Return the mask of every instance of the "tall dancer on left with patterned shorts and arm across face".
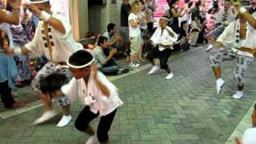
M 30 0 L 26 7 L 42 21 L 38 22 L 36 32 L 32 42 L 17 49 L 6 50 L 7 54 L 30 54 L 30 57 L 46 55 L 49 62 L 38 71 L 37 76 L 32 81 L 32 88 L 38 91 L 39 98 L 46 112 L 42 114 L 34 123 L 38 124 L 53 118 L 57 113 L 52 110 L 50 95 L 42 94 L 40 91 L 40 81 L 52 73 L 66 74 L 70 80 L 71 74 L 66 60 L 75 51 L 82 49 L 82 45 L 74 41 L 70 23 L 61 15 L 52 13 L 50 10 L 50 0 Z M 58 122 L 58 127 L 66 126 L 70 120 L 70 102 L 64 95 L 58 99 L 58 104 L 62 106 L 63 117 Z

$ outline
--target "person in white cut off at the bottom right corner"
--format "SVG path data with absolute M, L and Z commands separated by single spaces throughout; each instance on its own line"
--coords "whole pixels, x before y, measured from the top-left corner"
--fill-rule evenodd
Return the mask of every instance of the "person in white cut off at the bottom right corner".
M 251 115 L 253 126 L 245 131 L 242 136 L 242 141 L 236 138 L 237 144 L 255 144 L 256 143 L 256 103 L 254 104 L 254 111 Z

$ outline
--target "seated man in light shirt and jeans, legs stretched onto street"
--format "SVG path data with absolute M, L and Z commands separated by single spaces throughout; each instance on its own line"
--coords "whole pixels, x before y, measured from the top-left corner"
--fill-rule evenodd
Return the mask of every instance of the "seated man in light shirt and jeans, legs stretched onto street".
M 113 74 L 125 74 L 128 73 L 128 69 L 120 68 L 116 62 L 114 62 L 114 54 L 117 53 L 117 49 L 111 49 L 108 56 L 104 54 L 104 49 L 108 46 L 106 37 L 98 38 L 98 46 L 94 47 L 91 54 L 96 59 L 98 69 L 102 71 L 103 74 L 113 75 Z

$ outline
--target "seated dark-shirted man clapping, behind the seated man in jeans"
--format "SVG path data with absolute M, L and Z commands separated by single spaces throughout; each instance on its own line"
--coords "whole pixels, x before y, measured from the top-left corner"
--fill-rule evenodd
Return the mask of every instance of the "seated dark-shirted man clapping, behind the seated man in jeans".
M 106 37 L 106 39 L 107 39 L 106 45 L 107 45 L 108 49 L 105 49 L 104 53 L 106 54 L 106 56 L 108 56 L 110 54 L 110 50 L 112 50 L 112 49 L 118 50 L 117 43 L 120 42 L 122 40 L 122 38 L 120 35 L 116 34 L 114 23 L 108 24 L 106 29 L 107 29 L 107 31 L 104 34 L 102 34 L 102 36 Z

